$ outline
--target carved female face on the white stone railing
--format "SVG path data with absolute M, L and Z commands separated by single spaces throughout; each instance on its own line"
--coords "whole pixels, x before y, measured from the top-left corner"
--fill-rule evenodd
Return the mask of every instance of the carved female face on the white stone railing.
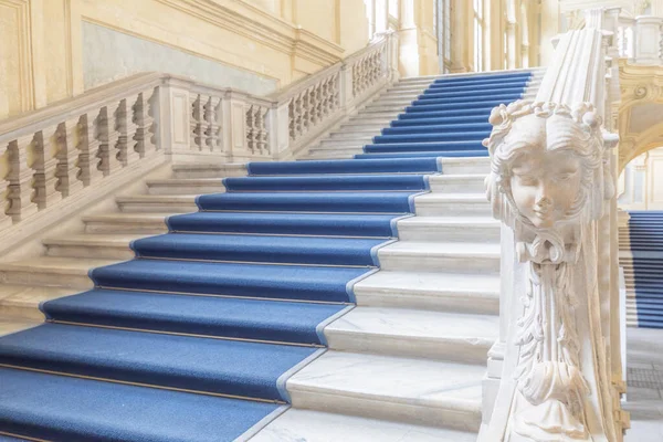
M 505 141 L 518 150 L 511 162 L 511 190 L 518 212 L 539 229 L 551 229 L 571 212 L 581 192 L 581 160 L 570 139 L 558 136 L 568 118 L 526 116 Z M 557 135 L 554 135 L 557 134 Z

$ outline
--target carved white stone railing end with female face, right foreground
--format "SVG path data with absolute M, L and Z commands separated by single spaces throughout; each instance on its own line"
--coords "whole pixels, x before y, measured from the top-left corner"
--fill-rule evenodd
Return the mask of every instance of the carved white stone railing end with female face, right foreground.
M 536 98 L 491 115 L 486 189 L 503 222 L 502 327 L 482 442 L 615 442 L 629 425 L 608 23 L 604 10 L 591 11 L 586 29 L 560 38 Z

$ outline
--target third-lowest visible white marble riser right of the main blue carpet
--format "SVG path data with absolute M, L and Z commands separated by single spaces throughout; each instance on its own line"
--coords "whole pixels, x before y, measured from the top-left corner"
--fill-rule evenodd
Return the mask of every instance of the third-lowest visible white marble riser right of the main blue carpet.
M 476 314 L 499 314 L 499 296 L 487 293 L 462 294 L 431 293 L 431 294 L 401 294 L 391 290 L 383 293 L 377 290 L 355 287 L 358 306 L 415 308 L 438 312 L 459 312 Z M 472 297 L 475 296 L 475 297 Z M 477 299 L 477 301 L 475 301 Z

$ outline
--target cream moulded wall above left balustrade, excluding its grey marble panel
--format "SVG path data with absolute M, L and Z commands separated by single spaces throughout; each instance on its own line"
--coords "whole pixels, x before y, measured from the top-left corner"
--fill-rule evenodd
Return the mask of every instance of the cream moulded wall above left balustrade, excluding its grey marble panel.
M 84 91 L 83 22 L 277 86 L 368 43 L 362 0 L 0 0 L 0 118 Z

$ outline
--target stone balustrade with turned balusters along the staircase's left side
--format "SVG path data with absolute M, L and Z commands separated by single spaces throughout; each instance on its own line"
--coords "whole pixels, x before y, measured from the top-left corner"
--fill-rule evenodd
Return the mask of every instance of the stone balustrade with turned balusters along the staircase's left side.
M 147 73 L 0 124 L 0 229 L 166 160 L 292 159 L 398 78 L 396 34 L 267 97 Z

